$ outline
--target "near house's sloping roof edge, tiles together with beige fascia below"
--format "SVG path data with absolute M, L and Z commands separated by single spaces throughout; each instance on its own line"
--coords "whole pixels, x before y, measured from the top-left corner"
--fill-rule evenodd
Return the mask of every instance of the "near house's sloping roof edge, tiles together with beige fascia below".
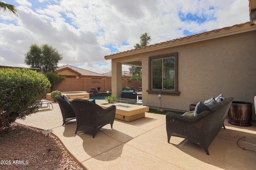
M 154 50 L 158 50 L 158 49 L 164 49 L 164 48 L 168 48 L 168 47 L 174 47 L 174 46 L 178 46 L 178 45 L 184 45 L 184 44 L 188 44 L 188 43 L 204 41 L 207 39 L 213 39 L 213 38 L 223 37 L 223 36 L 227 36 L 227 35 L 242 33 L 242 32 L 246 32 L 250 29 L 253 30 L 254 28 L 248 27 L 250 25 L 256 25 L 256 21 L 255 22 L 248 21 L 246 23 L 236 24 L 231 27 L 214 29 L 212 31 L 206 31 L 203 33 L 195 34 L 195 35 L 190 35 L 190 36 L 186 36 L 186 37 L 182 37 L 182 38 L 173 39 L 170 41 L 156 43 L 156 44 L 148 45 L 146 47 L 140 47 L 140 48 L 131 49 L 128 51 L 123 51 L 120 53 L 114 53 L 114 54 L 105 56 L 105 59 L 106 60 L 114 59 L 114 58 L 123 57 L 123 56 L 127 56 L 127 55 L 144 53 L 147 51 L 154 51 Z

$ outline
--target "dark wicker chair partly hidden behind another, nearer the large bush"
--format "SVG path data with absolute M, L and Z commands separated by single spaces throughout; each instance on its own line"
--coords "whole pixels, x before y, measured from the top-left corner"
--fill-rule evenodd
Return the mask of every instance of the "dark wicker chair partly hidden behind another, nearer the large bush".
M 66 102 L 60 95 L 56 95 L 55 98 L 57 99 L 57 102 L 60 106 L 60 111 L 62 113 L 62 118 L 63 118 L 63 124 L 62 126 L 67 122 L 72 119 L 76 119 L 75 112 L 71 105 Z

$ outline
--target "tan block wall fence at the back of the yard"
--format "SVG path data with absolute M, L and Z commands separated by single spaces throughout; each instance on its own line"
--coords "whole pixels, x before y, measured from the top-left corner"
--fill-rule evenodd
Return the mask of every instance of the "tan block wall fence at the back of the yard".
M 122 80 L 122 87 L 133 86 L 134 89 L 141 87 L 141 83 L 137 81 L 128 82 Z M 99 92 L 111 91 L 111 79 L 86 79 L 86 78 L 66 78 L 54 90 L 60 92 L 90 92 L 90 88 L 101 87 Z

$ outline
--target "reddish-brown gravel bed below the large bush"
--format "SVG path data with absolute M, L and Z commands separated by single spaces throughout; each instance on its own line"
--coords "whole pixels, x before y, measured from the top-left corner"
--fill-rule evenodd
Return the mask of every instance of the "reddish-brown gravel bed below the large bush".
M 83 170 L 60 141 L 42 130 L 12 123 L 0 131 L 0 170 Z

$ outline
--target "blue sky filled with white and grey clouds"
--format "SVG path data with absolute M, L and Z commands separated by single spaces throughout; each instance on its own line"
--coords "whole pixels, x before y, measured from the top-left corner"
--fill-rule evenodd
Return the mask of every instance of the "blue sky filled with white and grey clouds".
M 3 1 L 3 0 L 1 0 Z M 70 64 L 97 73 L 111 70 L 104 56 L 244 23 L 248 0 L 5 0 L 18 17 L 0 11 L 0 65 L 24 64 L 30 45 L 52 45 Z M 128 70 L 124 66 L 123 70 Z

